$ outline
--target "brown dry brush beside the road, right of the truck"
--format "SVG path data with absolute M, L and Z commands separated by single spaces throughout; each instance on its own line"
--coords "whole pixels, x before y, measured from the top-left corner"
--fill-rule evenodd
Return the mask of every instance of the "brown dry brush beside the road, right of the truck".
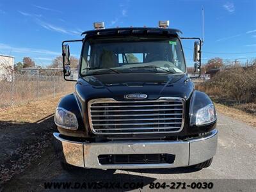
M 221 99 L 256 102 L 256 65 L 226 68 L 196 88 Z

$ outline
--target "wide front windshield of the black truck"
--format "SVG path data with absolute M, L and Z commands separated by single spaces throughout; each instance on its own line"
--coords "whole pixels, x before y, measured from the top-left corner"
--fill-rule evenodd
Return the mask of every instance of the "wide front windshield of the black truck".
M 84 42 L 82 76 L 132 72 L 186 72 L 179 38 L 115 36 Z

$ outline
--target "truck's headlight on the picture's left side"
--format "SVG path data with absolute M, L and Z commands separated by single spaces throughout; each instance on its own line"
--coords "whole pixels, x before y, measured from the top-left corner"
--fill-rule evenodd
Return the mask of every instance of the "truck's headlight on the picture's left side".
M 54 122 L 57 126 L 65 129 L 77 129 L 78 123 L 76 115 L 63 108 L 57 108 L 54 116 Z

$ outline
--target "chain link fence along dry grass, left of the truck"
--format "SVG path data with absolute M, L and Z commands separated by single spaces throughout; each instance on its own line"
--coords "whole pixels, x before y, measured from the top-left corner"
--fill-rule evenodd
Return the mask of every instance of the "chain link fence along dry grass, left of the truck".
M 63 79 L 62 69 L 12 70 L 0 77 L 0 108 L 71 92 L 74 82 Z

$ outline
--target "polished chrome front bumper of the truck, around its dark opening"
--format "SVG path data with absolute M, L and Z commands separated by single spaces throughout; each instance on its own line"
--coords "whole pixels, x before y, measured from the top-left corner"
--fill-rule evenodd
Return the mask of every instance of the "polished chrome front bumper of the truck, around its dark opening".
M 211 159 L 216 154 L 218 131 L 214 129 L 205 137 L 178 141 L 108 141 L 82 143 L 69 141 L 54 132 L 54 148 L 62 161 L 84 168 L 131 169 L 173 168 L 190 166 Z M 172 164 L 100 164 L 99 155 L 107 154 L 174 154 Z

